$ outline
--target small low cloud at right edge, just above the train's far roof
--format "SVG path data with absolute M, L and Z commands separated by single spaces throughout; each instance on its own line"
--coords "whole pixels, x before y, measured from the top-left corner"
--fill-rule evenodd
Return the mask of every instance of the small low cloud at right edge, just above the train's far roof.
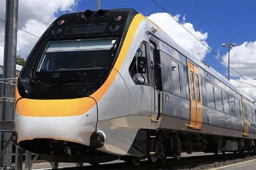
M 252 83 L 252 84 L 256 85 L 256 79 L 253 79 L 250 77 L 245 77 L 245 78 L 247 81 L 244 78 L 240 78 L 240 79 L 238 79 L 238 81 L 242 81 L 242 82 L 249 83 L 249 84 Z M 237 87 L 240 91 L 242 91 L 244 94 L 246 94 L 253 100 L 256 100 L 256 88 L 252 87 L 251 85 L 247 85 L 245 83 L 240 83 L 238 81 L 230 79 L 230 83 L 232 83 L 235 87 Z M 243 87 L 239 87 L 239 86 L 243 86 Z

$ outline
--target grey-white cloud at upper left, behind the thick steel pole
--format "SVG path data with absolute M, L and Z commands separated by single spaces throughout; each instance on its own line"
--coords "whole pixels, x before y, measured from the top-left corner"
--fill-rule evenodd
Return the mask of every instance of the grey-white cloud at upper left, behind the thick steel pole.
M 55 14 L 71 12 L 77 0 L 22 0 L 19 1 L 18 27 L 40 37 L 54 21 Z M 5 0 L 1 0 L 0 18 L 5 20 Z M 17 54 L 28 56 L 37 38 L 18 30 Z M 0 64 L 4 55 L 4 23 L 0 23 Z

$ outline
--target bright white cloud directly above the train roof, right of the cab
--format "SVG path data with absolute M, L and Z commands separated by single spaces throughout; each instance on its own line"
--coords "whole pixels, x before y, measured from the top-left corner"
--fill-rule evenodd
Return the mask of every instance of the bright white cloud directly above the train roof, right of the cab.
M 174 15 L 176 20 L 179 21 L 180 15 Z M 179 25 L 174 19 L 172 19 L 167 13 L 156 13 L 148 16 L 148 19 L 158 25 L 165 33 L 167 33 L 177 44 L 187 50 L 190 54 L 203 60 L 209 50 L 203 46 L 197 39 L 189 34 L 184 28 Z M 208 37 L 208 33 L 195 30 L 192 23 L 185 22 L 185 15 L 182 17 L 181 24 L 188 29 L 193 35 L 200 39 L 204 44 Z

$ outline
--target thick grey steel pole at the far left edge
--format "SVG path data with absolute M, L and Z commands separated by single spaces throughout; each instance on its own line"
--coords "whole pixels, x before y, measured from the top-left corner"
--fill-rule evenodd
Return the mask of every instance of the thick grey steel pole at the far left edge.
M 4 70 L 3 78 L 16 77 L 16 49 L 17 49 L 17 28 L 18 28 L 18 0 L 6 0 L 6 14 L 5 14 L 5 35 L 4 35 Z M 6 88 L 4 93 L 6 97 L 14 96 L 14 88 Z M 2 120 L 13 120 L 14 118 L 14 104 L 10 102 L 2 102 L 3 108 L 1 110 Z M 0 144 L 6 145 L 10 139 L 11 133 L 2 133 L 2 140 Z M 0 167 L 10 168 L 12 164 L 12 143 L 5 149 L 4 154 L 0 159 Z

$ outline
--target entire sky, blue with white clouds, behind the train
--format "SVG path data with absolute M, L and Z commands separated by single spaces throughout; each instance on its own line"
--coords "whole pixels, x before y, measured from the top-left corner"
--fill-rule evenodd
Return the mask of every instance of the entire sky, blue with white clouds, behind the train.
M 225 62 L 228 48 L 222 43 L 236 43 L 230 50 L 230 69 L 234 79 L 256 85 L 256 1 L 167 1 L 156 0 L 193 35 Z M 217 59 L 152 0 L 101 0 L 101 9 L 134 8 L 160 26 L 173 40 L 199 60 L 227 76 L 227 66 Z M 67 12 L 95 10 L 96 0 L 20 0 L 18 27 L 41 36 L 54 19 Z M 5 0 L 0 0 L 0 19 L 5 20 Z M 26 58 L 38 39 L 18 31 L 17 54 Z M 0 21 L 0 63 L 3 60 L 4 23 Z M 231 81 L 235 86 L 247 86 Z M 240 88 L 256 99 L 256 88 Z

